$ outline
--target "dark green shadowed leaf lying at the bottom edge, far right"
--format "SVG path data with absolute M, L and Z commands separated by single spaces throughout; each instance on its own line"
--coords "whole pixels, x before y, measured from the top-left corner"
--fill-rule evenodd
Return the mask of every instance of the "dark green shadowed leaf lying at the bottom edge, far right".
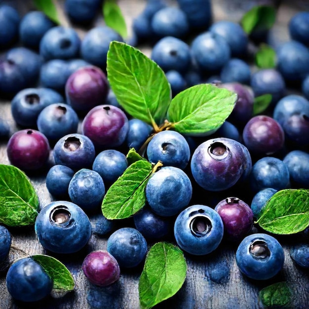
M 290 308 L 292 291 L 286 282 L 277 282 L 259 292 L 259 300 L 267 308 Z

